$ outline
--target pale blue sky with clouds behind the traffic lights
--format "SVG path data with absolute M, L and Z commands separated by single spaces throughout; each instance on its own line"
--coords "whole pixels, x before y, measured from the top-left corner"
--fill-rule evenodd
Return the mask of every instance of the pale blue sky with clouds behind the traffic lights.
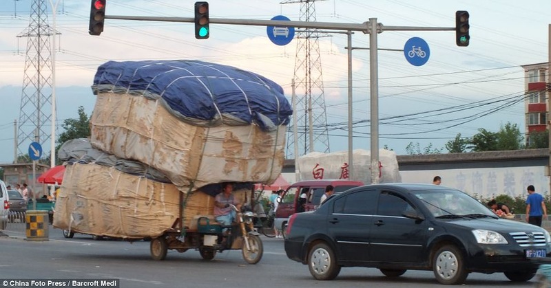
M 14 120 L 19 119 L 25 69 L 26 38 L 34 0 L 0 1 L 0 163 L 14 158 Z M 50 0 L 47 0 L 50 1 Z M 192 23 L 107 19 L 101 36 L 88 34 L 90 1 L 59 2 L 56 30 L 56 131 L 63 120 L 78 117 L 83 106 L 94 109 L 90 86 L 98 65 L 108 60 L 198 59 L 262 74 L 278 82 L 291 100 L 297 39 L 278 46 L 265 27 L 211 24 L 210 37 L 197 40 Z M 107 15 L 194 16 L 194 1 L 107 0 Z M 280 1 L 209 1 L 211 18 L 269 20 L 300 16 L 300 3 Z M 475 135 L 479 128 L 498 131 L 507 122 L 524 132 L 524 74 L 521 65 L 548 61 L 548 11 L 551 1 L 405 1 L 327 0 L 315 3 L 320 22 L 364 23 L 376 18 L 389 26 L 455 27 L 455 11 L 470 14 L 470 45 L 457 47 L 453 31 L 384 31 L 378 47 L 404 49 L 411 37 L 430 47 L 425 65 L 410 65 L 403 52 L 379 51 L 380 148 L 398 155 L 410 142 L 420 148 L 442 148 L 458 133 Z M 52 7 L 48 2 L 48 20 Z M 320 38 L 329 148 L 348 148 L 346 36 Z M 369 35 L 355 32 L 354 47 L 368 47 Z M 369 52 L 353 50 L 353 148 L 370 149 Z M 49 131 L 49 128 L 48 128 Z M 319 131 L 316 127 L 315 131 Z M 44 150 L 49 151 L 49 142 Z M 26 149 L 23 149 L 26 151 Z

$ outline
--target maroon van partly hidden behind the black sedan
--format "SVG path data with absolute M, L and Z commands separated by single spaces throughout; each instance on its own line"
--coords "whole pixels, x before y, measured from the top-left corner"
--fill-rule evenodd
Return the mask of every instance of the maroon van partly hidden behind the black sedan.
M 280 195 L 282 200 L 278 204 L 278 210 L 275 212 L 274 227 L 284 231 L 289 217 L 296 212 L 303 212 L 299 207 L 299 197 L 303 193 L 306 193 L 304 211 L 311 211 L 318 208 L 322 195 L 325 193 L 325 188 L 328 185 L 332 185 L 335 188 L 333 192 L 337 193 L 364 184 L 361 181 L 329 179 L 297 182 L 289 186 L 289 188 Z

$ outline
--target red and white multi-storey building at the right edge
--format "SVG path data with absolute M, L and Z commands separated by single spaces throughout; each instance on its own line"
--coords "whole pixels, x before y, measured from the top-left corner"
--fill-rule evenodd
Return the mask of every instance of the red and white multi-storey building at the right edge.
M 524 131 L 526 145 L 530 142 L 530 133 L 545 132 L 547 129 L 547 76 L 549 63 L 523 65 L 524 69 L 524 113 L 526 115 Z

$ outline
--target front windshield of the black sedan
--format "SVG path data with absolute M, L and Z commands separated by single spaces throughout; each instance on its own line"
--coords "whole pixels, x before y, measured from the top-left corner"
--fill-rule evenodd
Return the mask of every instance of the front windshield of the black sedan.
M 431 190 L 414 191 L 415 197 L 419 198 L 424 206 L 436 218 L 457 219 L 457 218 L 497 218 L 486 206 L 459 190 Z

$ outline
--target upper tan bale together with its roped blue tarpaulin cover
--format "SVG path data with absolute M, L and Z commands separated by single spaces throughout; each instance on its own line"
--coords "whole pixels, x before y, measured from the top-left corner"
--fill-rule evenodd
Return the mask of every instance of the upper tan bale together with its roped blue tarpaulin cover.
M 271 80 L 201 61 L 111 61 L 93 89 L 92 146 L 152 166 L 180 190 L 280 175 L 292 111 Z

